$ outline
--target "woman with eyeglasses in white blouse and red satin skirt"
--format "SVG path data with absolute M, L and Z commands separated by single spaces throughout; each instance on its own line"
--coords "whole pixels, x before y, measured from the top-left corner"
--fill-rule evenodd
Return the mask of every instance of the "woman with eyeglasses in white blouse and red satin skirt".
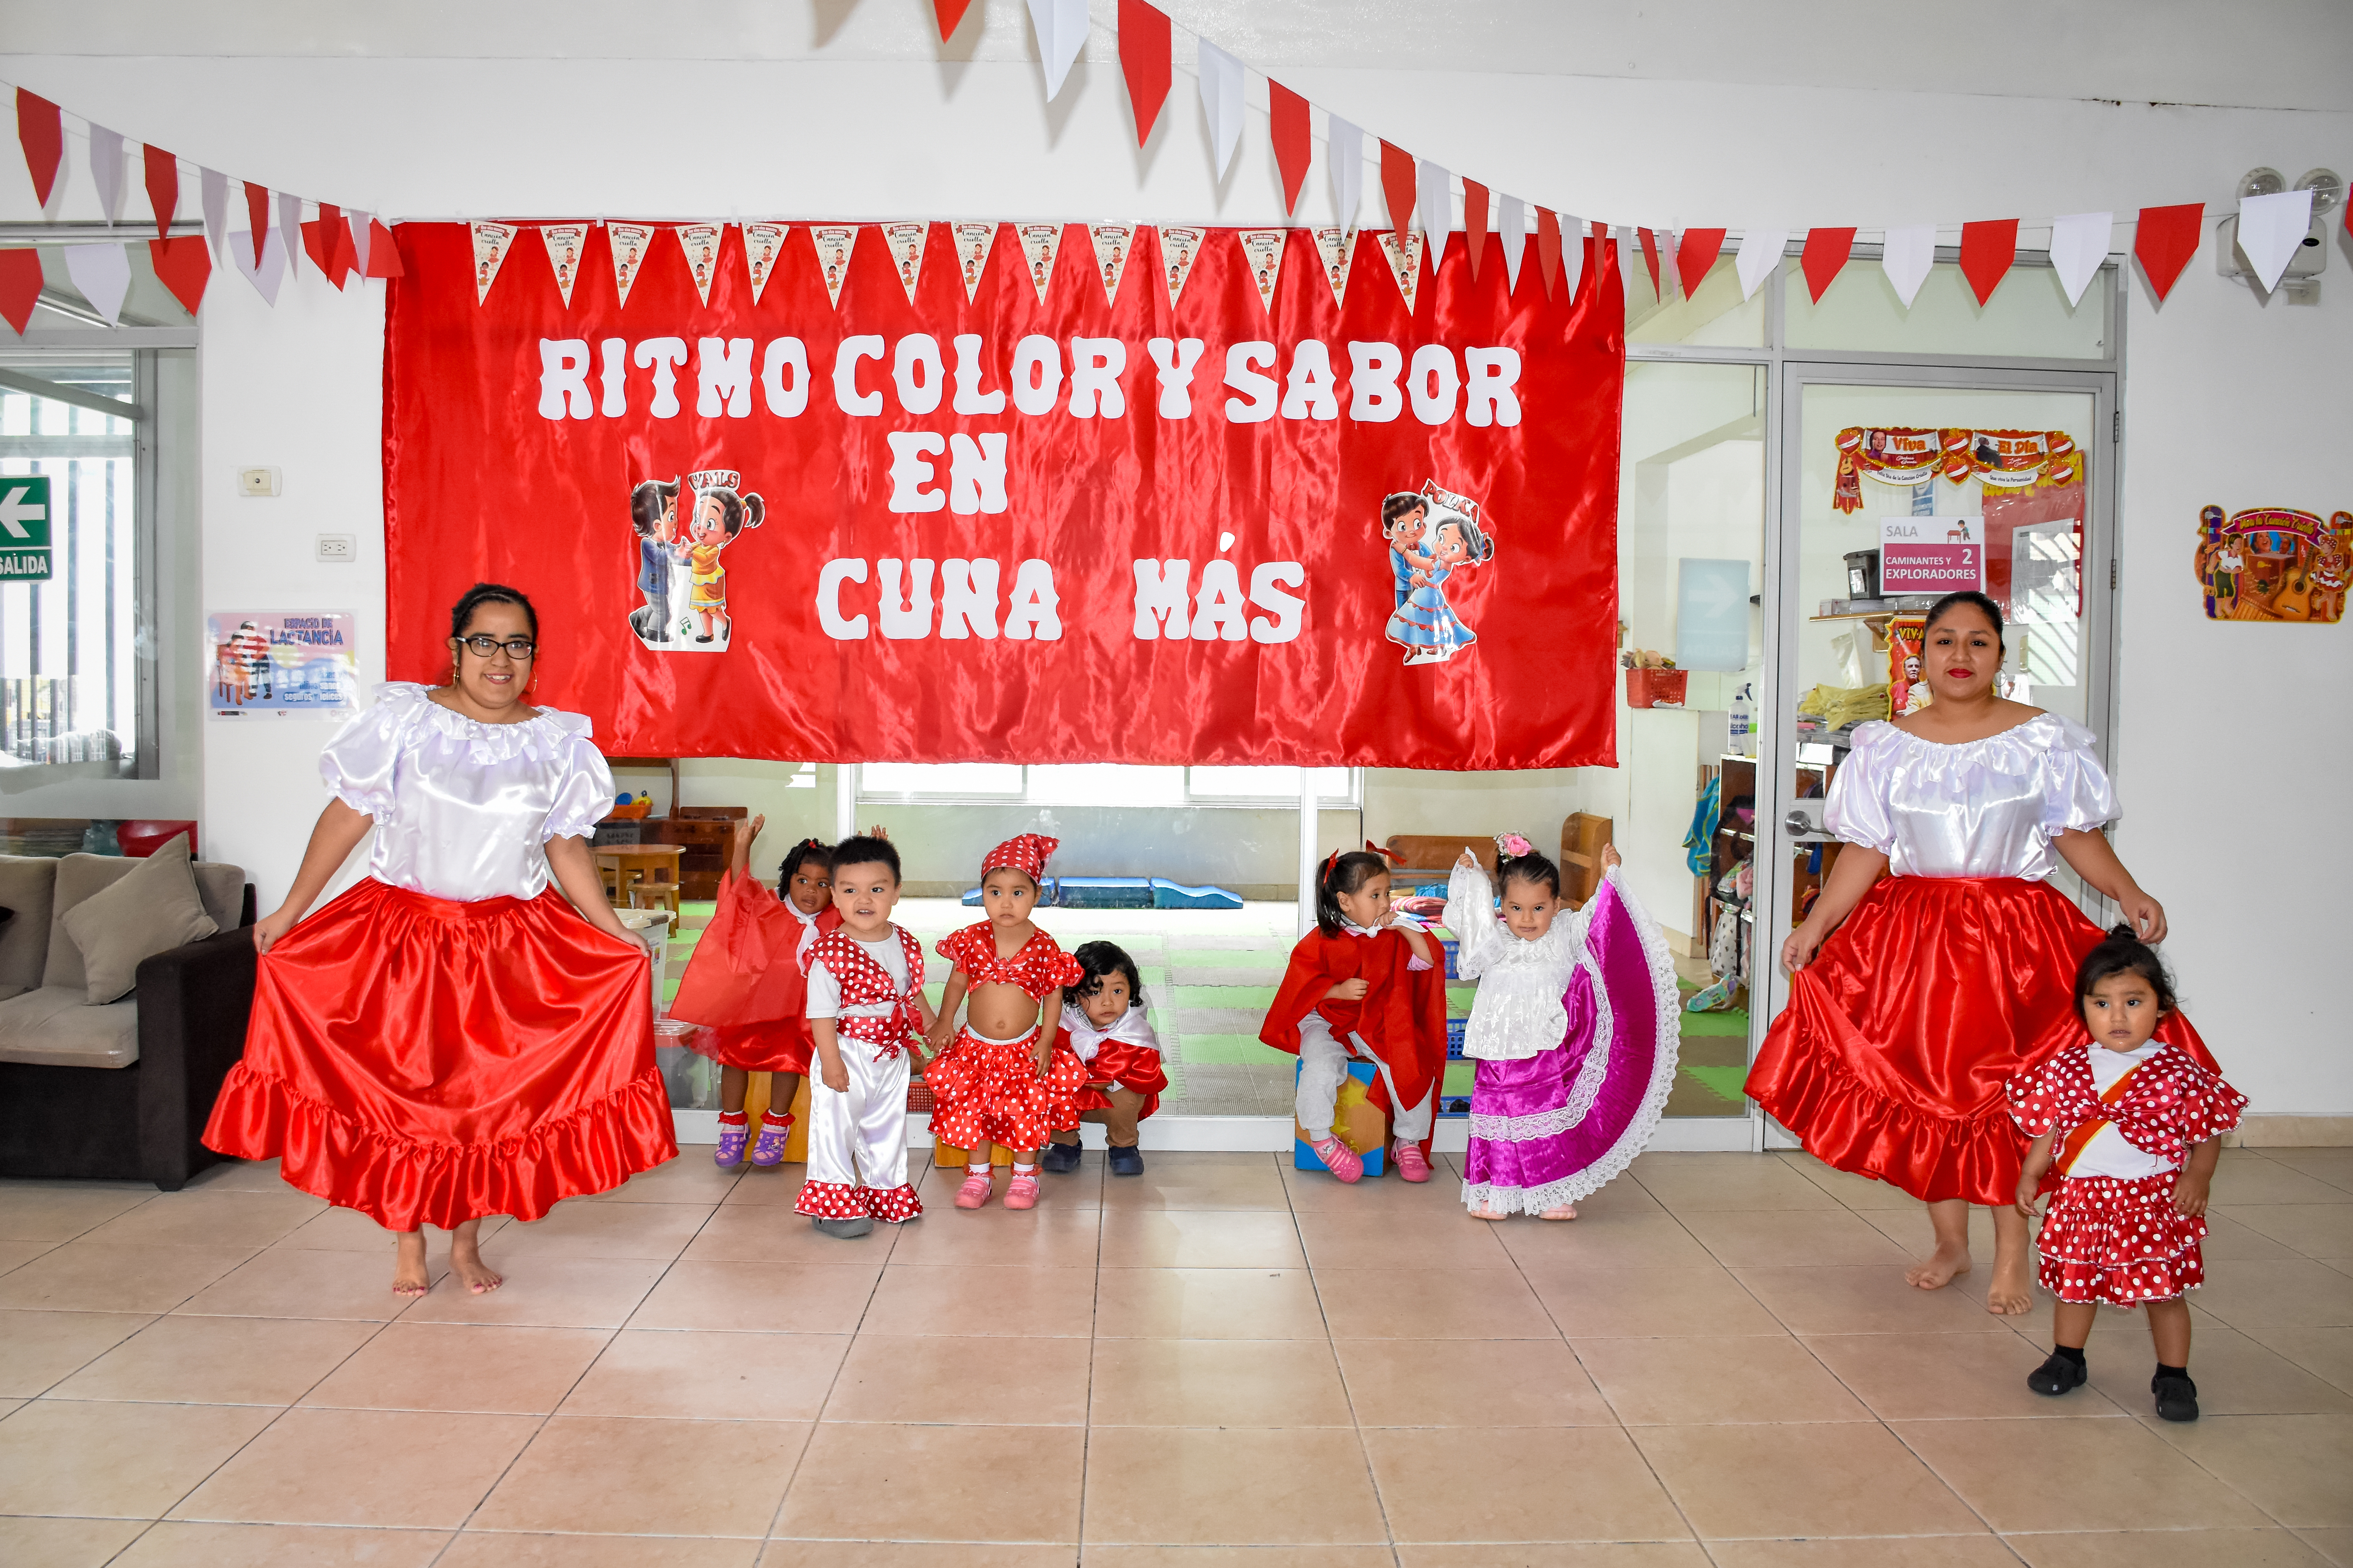
M 395 1295 L 433 1288 L 426 1225 L 480 1295 L 501 1284 L 485 1215 L 536 1220 L 678 1154 L 649 959 L 588 856 L 612 771 L 588 719 L 525 701 L 536 639 L 529 599 L 475 583 L 449 684 L 388 682 L 327 743 L 334 799 L 254 926 L 245 1060 L 205 1128 L 395 1232 Z M 367 877 L 304 919 L 369 830 Z

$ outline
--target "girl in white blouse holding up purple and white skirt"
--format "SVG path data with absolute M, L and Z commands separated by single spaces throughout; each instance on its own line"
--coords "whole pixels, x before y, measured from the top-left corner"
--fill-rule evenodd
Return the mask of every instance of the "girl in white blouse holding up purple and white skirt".
M 1567 912 L 1560 867 L 1515 832 L 1494 844 L 1501 919 L 1468 849 L 1447 879 L 1457 969 L 1478 980 L 1464 1206 L 1473 1220 L 1574 1220 L 1577 1199 L 1642 1152 L 1675 1088 L 1675 961 L 1619 884 L 1614 846 L 1600 889 Z

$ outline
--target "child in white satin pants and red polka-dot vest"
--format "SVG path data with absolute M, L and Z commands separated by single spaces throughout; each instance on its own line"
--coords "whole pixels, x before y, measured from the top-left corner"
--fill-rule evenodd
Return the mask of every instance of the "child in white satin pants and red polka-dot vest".
M 906 1180 L 908 1053 L 932 1013 L 922 1001 L 922 943 L 892 924 L 899 851 L 868 835 L 833 851 L 842 924 L 809 943 L 809 1180 L 795 1213 L 828 1237 L 864 1237 L 922 1215 Z

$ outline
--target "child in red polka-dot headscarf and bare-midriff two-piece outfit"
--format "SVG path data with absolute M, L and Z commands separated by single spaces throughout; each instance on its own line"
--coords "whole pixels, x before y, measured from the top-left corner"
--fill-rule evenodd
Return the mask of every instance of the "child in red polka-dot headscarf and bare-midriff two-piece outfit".
M 1059 1044 L 1061 992 L 1087 973 L 1052 936 L 1031 924 L 1038 879 L 1059 839 L 1035 832 L 1005 839 L 981 860 L 981 907 L 988 919 L 941 938 L 939 957 L 955 964 L 932 1023 L 932 1065 L 922 1081 L 939 1110 L 932 1133 L 965 1150 L 958 1208 L 979 1208 L 993 1190 L 991 1152 L 1014 1152 L 1007 1208 L 1038 1206 L 1038 1147 L 1078 1126 L 1078 1091 L 1087 1070 Z M 965 1027 L 955 1006 L 969 994 Z

